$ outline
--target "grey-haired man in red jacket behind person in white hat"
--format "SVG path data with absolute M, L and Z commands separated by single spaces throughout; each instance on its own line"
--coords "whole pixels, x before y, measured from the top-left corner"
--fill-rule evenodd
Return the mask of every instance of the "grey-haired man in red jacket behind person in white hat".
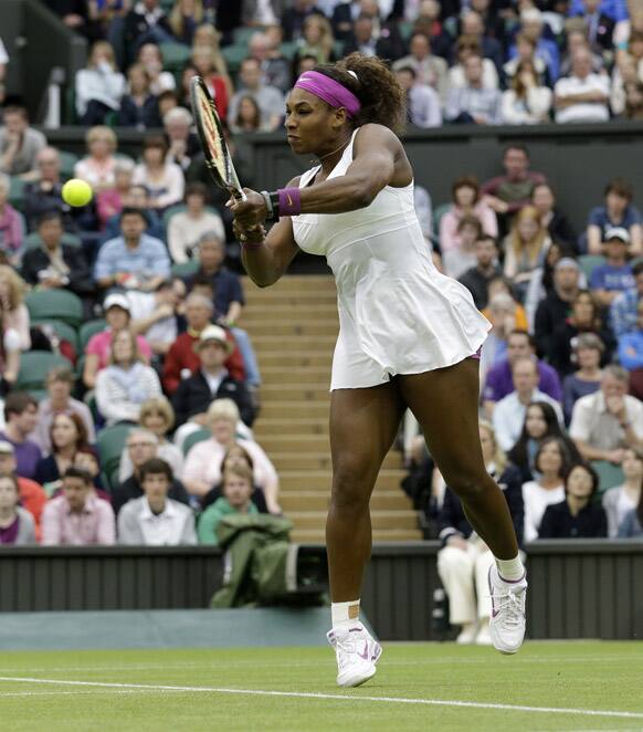
M 167 394 L 172 395 L 178 389 L 182 378 L 191 376 L 193 372 L 199 369 L 201 362 L 193 346 L 199 339 L 201 331 L 212 324 L 213 310 L 212 301 L 203 295 L 193 294 L 186 300 L 188 330 L 181 333 L 172 343 L 164 364 L 162 383 Z M 245 367 L 241 352 L 236 346 L 234 336 L 229 331 L 225 332 L 225 335 L 234 344 L 234 351 L 223 366 L 232 378 L 244 381 Z

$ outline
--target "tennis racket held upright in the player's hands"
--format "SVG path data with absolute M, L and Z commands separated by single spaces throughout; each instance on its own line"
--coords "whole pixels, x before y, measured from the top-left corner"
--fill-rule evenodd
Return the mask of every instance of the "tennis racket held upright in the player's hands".
M 228 190 L 238 201 L 244 201 L 245 194 L 232 165 L 232 156 L 225 144 L 221 119 L 219 119 L 210 92 L 200 76 L 192 76 L 190 81 L 190 102 L 205 156 L 205 165 L 210 169 L 214 182 L 220 188 Z

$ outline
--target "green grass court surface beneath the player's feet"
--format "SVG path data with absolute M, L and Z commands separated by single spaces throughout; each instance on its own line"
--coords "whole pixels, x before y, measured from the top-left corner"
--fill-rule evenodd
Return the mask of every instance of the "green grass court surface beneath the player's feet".
M 643 644 L 639 642 L 528 642 L 514 657 L 500 656 L 488 648 L 451 644 L 388 644 L 378 668 L 377 677 L 368 684 L 341 690 L 335 686 L 334 656 L 325 648 L 3 652 L 0 655 L 0 729 L 3 732 L 643 730 Z M 15 681 L 7 680 L 8 677 L 55 682 Z M 125 686 L 59 683 L 71 680 Z M 341 698 L 159 690 L 128 684 Z M 400 698 L 634 712 L 637 717 L 396 701 Z

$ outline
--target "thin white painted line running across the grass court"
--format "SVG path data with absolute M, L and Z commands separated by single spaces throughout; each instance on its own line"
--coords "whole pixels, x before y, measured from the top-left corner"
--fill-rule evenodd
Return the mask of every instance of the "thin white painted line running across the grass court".
M 361 697 L 356 694 L 329 694 L 308 691 L 270 691 L 266 689 L 226 689 L 224 687 L 179 687 L 150 683 L 116 683 L 106 681 L 62 681 L 60 679 L 35 679 L 20 676 L 1 676 L 0 681 L 23 683 L 50 683 L 66 687 L 97 687 L 103 689 L 145 689 L 151 691 L 187 691 L 218 694 L 246 694 L 250 697 L 289 697 L 295 699 L 331 699 L 333 701 L 372 701 L 390 704 L 426 704 L 428 707 L 460 707 L 467 709 L 499 709 L 509 712 L 541 712 L 547 714 L 577 714 L 579 717 L 618 717 L 642 719 L 643 712 L 619 712 L 600 709 L 572 709 L 563 707 L 528 707 L 525 704 L 492 704 L 477 701 L 445 699 L 413 699 L 404 697 Z

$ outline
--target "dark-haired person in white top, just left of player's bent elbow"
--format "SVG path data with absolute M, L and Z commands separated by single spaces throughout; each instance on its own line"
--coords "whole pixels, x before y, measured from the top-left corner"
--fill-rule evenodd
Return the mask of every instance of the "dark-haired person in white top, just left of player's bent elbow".
M 177 211 L 168 221 L 168 248 L 177 264 L 199 253 L 201 237 L 208 236 L 218 242 L 225 240 L 221 217 L 205 209 L 207 197 L 208 189 L 203 184 L 189 184 L 186 188 L 186 210 Z

